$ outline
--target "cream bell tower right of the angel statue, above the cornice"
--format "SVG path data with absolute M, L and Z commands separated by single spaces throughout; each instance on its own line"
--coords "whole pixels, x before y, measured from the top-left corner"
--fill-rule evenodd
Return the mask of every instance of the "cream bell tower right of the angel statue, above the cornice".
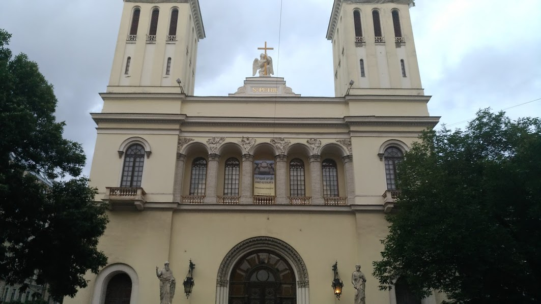
M 334 1 L 327 39 L 333 44 L 335 96 L 424 94 L 412 6 L 413 0 Z

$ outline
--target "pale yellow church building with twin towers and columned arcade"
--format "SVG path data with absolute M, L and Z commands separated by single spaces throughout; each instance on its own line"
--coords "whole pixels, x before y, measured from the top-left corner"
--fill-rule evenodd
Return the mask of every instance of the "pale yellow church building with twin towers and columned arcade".
M 198 1 L 124 0 L 103 109 L 91 114 L 109 265 L 64 303 L 332 303 L 335 262 L 340 302 L 441 302 L 415 300 L 407 286 L 379 291 L 372 276 L 395 165 L 439 120 L 421 86 L 411 6 L 334 0 L 335 97 L 302 97 L 266 72 L 205 97 L 193 96 L 206 35 Z M 365 298 L 351 282 L 356 265 Z

